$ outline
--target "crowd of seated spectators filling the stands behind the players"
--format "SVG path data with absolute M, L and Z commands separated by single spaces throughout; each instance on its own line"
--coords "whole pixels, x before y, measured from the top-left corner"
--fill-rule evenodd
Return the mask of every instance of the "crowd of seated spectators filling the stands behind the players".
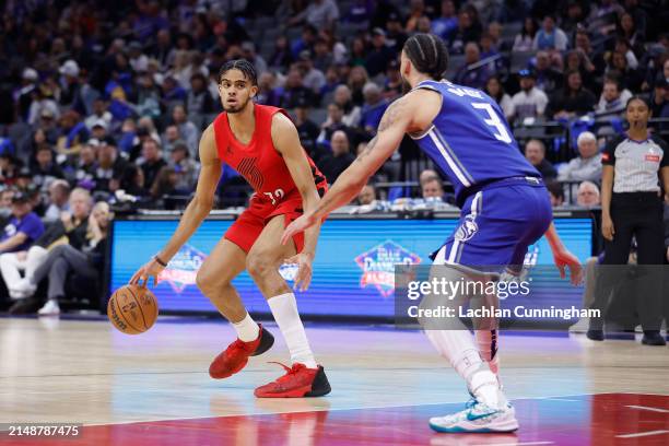
M 598 204 L 599 153 L 624 131 L 633 94 L 660 118 L 654 131 L 669 130 L 666 0 L 10 0 L 3 8 L 0 254 L 24 251 L 42 235 L 35 222 L 28 238 L 8 245 L 17 214 L 68 233 L 84 224 L 93 240 L 105 227 L 87 216 L 95 202 L 115 211 L 184 206 L 200 134 L 222 110 L 219 68 L 236 58 L 258 71 L 258 103 L 290 110 L 330 183 L 402 94 L 399 54 L 418 32 L 447 43 L 447 79 L 484 90 L 514 129 L 558 122 L 558 137 L 516 134 L 555 206 Z M 406 188 L 375 187 L 384 181 L 416 181 L 425 202 L 453 202 L 431 168 L 407 138 L 360 203 L 408 198 Z M 243 184 L 225 168 L 218 207 L 244 206 Z M 72 216 L 81 191 L 89 214 Z M 69 245 L 83 253 L 91 244 L 80 238 Z M 34 283 L 26 283 L 12 292 L 27 293 Z

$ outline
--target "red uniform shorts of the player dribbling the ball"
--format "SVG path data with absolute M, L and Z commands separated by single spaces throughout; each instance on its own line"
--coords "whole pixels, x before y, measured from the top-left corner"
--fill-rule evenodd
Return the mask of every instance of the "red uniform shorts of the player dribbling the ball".
M 272 218 L 284 216 L 284 227 L 293 220 L 296 220 L 304 212 L 302 208 L 302 197 L 286 197 L 285 200 L 274 206 L 269 201 L 251 198 L 248 209 L 246 209 L 232 226 L 225 232 L 225 238 L 244 249 L 248 254 L 251 246 L 256 243 L 262 230 Z M 304 248 L 304 233 L 293 236 L 297 253 Z

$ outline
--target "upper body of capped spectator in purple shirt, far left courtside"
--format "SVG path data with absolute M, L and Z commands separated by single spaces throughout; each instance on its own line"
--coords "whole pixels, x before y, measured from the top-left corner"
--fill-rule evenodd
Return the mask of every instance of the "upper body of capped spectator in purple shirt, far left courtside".
M 0 253 L 26 250 L 44 233 L 44 224 L 33 212 L 25 192 L 12 196 L 12 218 L 0 236 Z

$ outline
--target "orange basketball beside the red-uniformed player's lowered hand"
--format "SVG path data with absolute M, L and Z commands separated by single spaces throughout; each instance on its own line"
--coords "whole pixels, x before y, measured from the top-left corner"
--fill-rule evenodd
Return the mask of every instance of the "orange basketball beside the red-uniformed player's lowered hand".
M 111 294 L 107 316 L 126 334 L 143 333 L 155 324 L 157 301 L 148 287 L 124 285 Z

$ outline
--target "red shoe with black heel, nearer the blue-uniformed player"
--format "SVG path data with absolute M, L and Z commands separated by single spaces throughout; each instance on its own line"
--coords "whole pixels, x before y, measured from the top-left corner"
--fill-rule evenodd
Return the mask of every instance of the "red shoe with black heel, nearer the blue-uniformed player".
M 322 366 L 307 368 L 302 363 L 295 363 L 286 367 L 277 363 L 285 369 L 285 375 L 277 380 L 260 386 L 254 391 L 258 398 L 303 398 L 322 397 L 330 392 L 330 383 Z

